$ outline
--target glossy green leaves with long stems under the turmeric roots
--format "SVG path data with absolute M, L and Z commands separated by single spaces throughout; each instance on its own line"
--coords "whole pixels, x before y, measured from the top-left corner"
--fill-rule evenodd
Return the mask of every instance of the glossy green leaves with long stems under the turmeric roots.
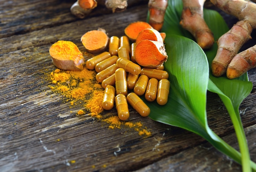
M 166 33 L 166 52 L 169 56 L 164 66 L 169 73 L 170 94 L 168 103 L 164 106 L 147 102 L 151 109 L 150 118 L 194 132 L 222 153 L 242 163 L 243 170 L 250 170 L 252 166 L 256 171 L 256 164 L 249 159 L 239 115 L 240 103 L 250 93 L 252 83 L 247 82 L 247 74 L 232 80 L 227 77 L 213 77 L 209 66 L 216 55 L 217 44 L 204 52 L 194 42 L 192 35 L 180 26 L 181 13 L 182 1 L 169 0 L 162 32 Z M 204 19 L 213 31 L 215 40 L 229 29 L 216 11 L 204 9 Z M 207 89 L 217 93 L 227 107 L 242 155 L 209 128 L 206 114 Z

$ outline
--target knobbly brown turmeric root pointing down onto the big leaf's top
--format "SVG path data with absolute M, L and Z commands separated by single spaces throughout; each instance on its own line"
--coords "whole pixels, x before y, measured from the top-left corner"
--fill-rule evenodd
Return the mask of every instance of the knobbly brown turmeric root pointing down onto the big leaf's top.
M 209 49 L 214 43 L 213 33 L 204 21 L 205 0 L 182 0 L 181 26 L 189 31 L 202 49 Z

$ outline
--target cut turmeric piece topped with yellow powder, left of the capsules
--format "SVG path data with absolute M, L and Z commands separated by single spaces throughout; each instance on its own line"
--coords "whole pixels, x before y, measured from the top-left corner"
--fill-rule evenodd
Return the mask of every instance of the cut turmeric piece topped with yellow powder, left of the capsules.
M 49 53 L 53 64 L 63 70 L 82 70 L 85 60 L 76 44 L 71 41 L 60 40 L 54 43 Z

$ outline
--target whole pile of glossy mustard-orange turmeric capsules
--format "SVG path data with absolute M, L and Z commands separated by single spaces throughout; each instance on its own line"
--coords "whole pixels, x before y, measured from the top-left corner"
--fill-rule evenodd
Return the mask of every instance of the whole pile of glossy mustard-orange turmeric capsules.
M 164 66 L 143 68 L 135 60 L 136 43 L 127 36 L 110 37 L 108 51 L 86 61 L 86 68 L 97 72 L 96 80 L 104 90 L 102 107 L 111 110 L 114 105 L 119 119 L 125 121 L 130 104 L 141 116 L 150 114 L 150 108 L 139 97 L 164 105 L 168 101 L 170 82 Z

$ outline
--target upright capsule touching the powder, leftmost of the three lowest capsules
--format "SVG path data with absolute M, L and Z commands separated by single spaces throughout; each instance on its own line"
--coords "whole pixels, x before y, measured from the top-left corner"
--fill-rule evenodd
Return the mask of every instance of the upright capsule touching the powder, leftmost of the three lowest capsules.
M 115 87 L 113 86 L 106 86 L 103 94 L 103 100 L 102 100 L 102 108 L 105 110 L 110 110 L 114 107 L 114 101 L 115 101 Z

